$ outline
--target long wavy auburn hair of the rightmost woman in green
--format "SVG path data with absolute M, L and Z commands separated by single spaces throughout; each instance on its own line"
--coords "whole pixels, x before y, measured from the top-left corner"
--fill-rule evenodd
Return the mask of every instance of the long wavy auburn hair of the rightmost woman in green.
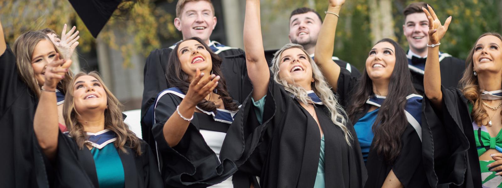
M 473 56 L 477 41 L 479 41 L 479 39 L 481 39 L 484 36 L 495 36 L 498 39 L 500 39 L 500 41 L 502 41 L 502 36 L 500 36 L 500 34 L 498 33 L 485 33 L 479 36 L 474 45 L 472 45 L 472 48 L 469 51 L 469 55 L 465 60 L 464 75 L 462 76 L 462 79 L 460 79 L 460 86 L 462 88 L 462 93 L 465 96 L 465 98 L 468 99 L 472 104 L 471 115 L 474 118 L 474 122 L 476 122 L 478 126 L 483 125 L 483 119 L 488 118 L 488 114 L 486 113 L 486 110 L 483 108 L 481 100 L 481 92 L 479 90 L 479 83 L 477 81 L 477 77 L 474 76 L 473 74 L 474 73 Z M 502 115 L 502 112 L 500 112 L 500 114 Z

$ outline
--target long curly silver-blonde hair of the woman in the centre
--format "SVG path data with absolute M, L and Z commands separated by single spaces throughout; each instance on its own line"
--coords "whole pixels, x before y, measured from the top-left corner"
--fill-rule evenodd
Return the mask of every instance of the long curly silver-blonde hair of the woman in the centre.
M 284 86 L 284 89 L 291 94 L 293 94 L 299 101 L 304 104 L 309 104 L 308 101 L 310 97 L 307 95 L 307 90 L 303 87 L 298 86 L 295 83 L 288 83 L 286 78 L 281 79 L 279 77 L 279 65 L 281 64 L 281 56 L 282 53 L 291 48 L 298 48 L 305 53 L 305 56 L 309 57 L 307 51 L 303 49 L 301 45 L 289 43 L 284 45 L 279 51 L 274 54 L 274 59 L 272 59 L 272 66 L 270 70 L 274 74 L 274 81 Z M 324 78 L 321 69 L 317 64 L 314 63 L 312 58 L 307 58 L 312 67 L 312 78 L 314 82 L 311 83 L 312 90 L 318 95 L 318 97 L 323 102 L 324 106 L 326 106 L 331 115 L 331 121 L 338 126 L 345 135 L 345 141 L 350 146 L 352 141 L 352 134 L 347 129 L 347 115 L 345 114 L 345 110 L 343 110 L 342 106 L 338 104 L 338 99 L 335 97 L 331 87 L 329 87 L 328 82 Z

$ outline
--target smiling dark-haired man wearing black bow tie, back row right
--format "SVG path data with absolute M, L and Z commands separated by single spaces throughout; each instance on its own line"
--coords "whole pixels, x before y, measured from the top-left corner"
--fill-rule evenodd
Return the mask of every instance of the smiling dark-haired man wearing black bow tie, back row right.
M 412 75 L 413 86 L 418 93 L 424 94 L 424 69 L 427 60 L 427 44 L 429 43 L 429 21 L 422 11 L 427 3 L 417 2 L 408 5 L 403 11 L 405 23 L 403 32 L 408 41 L 408 67 Z M 458 87 L 465 69 L 465 62 L 447 53 L 439 54 L 441 69 L 441 85 L 445 88 Z

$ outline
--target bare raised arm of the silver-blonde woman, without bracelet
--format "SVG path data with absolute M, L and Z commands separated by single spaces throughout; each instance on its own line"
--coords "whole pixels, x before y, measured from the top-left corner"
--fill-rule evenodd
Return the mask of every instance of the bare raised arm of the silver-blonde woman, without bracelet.
M 260 0 L 247 0 L 244 18 L 244 51 L 247 75 L 253 84 L 253 99 L 255 100 L 260 100 L 267 95 L 270 81 L 260 24 Z

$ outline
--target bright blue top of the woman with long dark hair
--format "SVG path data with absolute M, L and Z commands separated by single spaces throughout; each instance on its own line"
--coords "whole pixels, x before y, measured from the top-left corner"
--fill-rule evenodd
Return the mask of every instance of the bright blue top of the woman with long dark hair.
M 362 116 L 359 121 L 354 124 L 355 133 L 357 134 L 357 139 L 359 140 L 359 145 L 361 146 L 364 163 L 368 158 L 369 147 L 371 146 L 374 136 L 371 127 L 376 120 L 379 109 L 380 108 L 377 108 L 376 110 L 364 114 L 364 116 Z

